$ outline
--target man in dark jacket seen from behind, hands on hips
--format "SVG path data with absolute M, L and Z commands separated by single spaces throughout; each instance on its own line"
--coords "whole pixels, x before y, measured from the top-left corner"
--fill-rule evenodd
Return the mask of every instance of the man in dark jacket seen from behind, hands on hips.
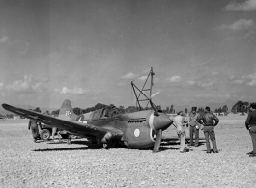
M 211 147 L 209 142 L 209 137 L 213 144 L 213 153 L 218 153 L 217 145 L 216 145 L 216 138 L 215 138 L 215 132 L 214 132 L 214 126 L 216 126 L 219 122 L 218 118 L 210 112 L 210 107 L 205 108 L 205 113 L 200 116 L 197 121 L 200 124 L 204 125 L 203 131 L 206 137 L 206 153 L 211 153 Z

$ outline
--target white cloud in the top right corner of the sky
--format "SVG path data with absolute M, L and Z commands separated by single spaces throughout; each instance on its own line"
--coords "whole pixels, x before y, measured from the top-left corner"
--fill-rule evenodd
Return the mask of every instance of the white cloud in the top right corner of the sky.
M 247 0 L 243 3 L 230 2 L 225 10 L 229 11 L 251 11 L 256 10 L 256 0 Z

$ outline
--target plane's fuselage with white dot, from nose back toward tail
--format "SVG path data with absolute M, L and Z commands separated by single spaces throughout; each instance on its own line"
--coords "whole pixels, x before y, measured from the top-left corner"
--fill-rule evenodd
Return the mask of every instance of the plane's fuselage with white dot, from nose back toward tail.
M 111 113 L 105 113 L 105 110 L 100 109 L 92 113 L 83 114 L 77 118 L 77 121 L 116 132 L 116 136 L 113 139 L 117 138 L 128 148 L 152 147 L 155 143 L 154 137 L 157 132 L 157 126 L 163 123 L 162 126 L 166 129 L 171 125 L 167 115 L 160 113 L 156 117 L 153 110 L 115 114 L 113 116 L 111 116 Z M 119 135 L 122 136 L 119 137 Z M 102 138 L 96 139 L 100 141 Z

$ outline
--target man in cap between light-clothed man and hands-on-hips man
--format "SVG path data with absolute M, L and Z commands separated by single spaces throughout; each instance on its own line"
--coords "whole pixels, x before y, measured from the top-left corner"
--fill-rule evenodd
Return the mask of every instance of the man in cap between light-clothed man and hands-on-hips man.
M 199 117 L 199 114 L 196 113 L 196 107 L 192 107 L 192 111 L 189 114 L 189 133 L 190 133 L 190 146 L 194 145 L 193 137 L 195 135 L 195 147 L 198 147 L 199 143 L 199 128 L 200 124 L 197 122 L 197 118 Z

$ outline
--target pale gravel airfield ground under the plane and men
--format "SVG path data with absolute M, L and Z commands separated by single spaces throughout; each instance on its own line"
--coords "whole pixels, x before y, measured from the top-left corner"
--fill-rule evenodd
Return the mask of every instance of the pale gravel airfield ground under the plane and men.
M 158 153 L 92 147 L 86 139 L 34 143 L 28 120 L 0 121 L 0 187 L 255 187 L 245 118 L 219 117 L 218 154 L 206 154 L 204 141 L 184 154 L 175 141 L 163 142 Z M 176 136 L 175 128 L 163 136 Z

